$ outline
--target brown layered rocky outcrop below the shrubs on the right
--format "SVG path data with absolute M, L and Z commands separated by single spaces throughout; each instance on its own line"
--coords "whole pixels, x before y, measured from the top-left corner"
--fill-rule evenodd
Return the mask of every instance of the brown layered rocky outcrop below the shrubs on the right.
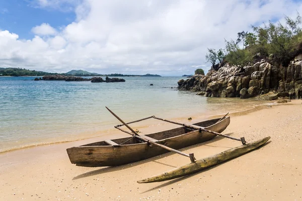
M 243 68 L 226 64 L 206 75 L 181 79 L 178 88 L 202 91 L 208 97 L 249 98 L 274 91 L 277 97 L 302 98 L 302 60 L 293 60 L 287 67 L 264 59 Z

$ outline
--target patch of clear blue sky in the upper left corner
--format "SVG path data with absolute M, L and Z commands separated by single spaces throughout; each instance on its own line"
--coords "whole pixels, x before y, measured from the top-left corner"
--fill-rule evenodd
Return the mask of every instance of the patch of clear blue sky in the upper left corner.
M 32 39 L 31 29 L 47 22 L 52 27 L 64 27 L 75 20 L 72 10 L 39 8 L 32 1 L 0 0 L 0 29 L 18 33 L 20 39 Z

